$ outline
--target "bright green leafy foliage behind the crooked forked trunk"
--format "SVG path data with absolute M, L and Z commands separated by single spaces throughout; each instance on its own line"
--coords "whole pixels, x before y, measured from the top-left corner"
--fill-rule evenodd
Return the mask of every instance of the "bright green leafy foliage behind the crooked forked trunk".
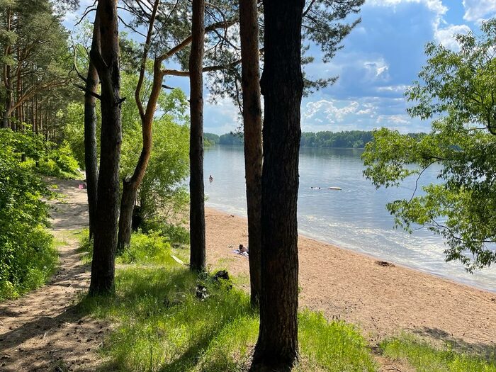
M 131 94 L 135 77 L 124 75 L 123 90 Z M 181 184 L 189 173 L 189 128 L 187 99 L 174 89 L 159 97 L 161 115 L 153 123 L 153 149 L 145 177 L 138 191 L 138 201 L 145 220 L 167 220 L 188 203 L 188 193 Z M 123 106 L 123 147 L 120 174 L 130 177 L 142 149 L 141 121 L 135 103 Z

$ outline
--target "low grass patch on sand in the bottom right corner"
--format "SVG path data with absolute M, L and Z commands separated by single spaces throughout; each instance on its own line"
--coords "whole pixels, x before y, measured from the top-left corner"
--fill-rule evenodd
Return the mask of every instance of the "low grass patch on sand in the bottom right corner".
M 432 346 L 412 334 L 385 339 L 381 342 L 384 356 L 407 361 L 418 372 L 496 372 L 496 359 L 483 359 L 470 352 Z

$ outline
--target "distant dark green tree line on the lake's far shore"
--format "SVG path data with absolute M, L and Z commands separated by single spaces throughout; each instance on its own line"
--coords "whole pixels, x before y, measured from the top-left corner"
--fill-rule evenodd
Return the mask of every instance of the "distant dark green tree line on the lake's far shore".
M 424 133 L 408 133 L 412 138 L 421 137 Z M 208 146 L 234 145 L 242 146 L 244 136 L 238 133 L 215 135 L 205 133 L 203 141 Z M 301 134 L 300 147 L 334 147 L 362 149 L 368 142 L 373 141 L 373 132 L 369 130 L 344 130 L 342 132 L 306 132 Z

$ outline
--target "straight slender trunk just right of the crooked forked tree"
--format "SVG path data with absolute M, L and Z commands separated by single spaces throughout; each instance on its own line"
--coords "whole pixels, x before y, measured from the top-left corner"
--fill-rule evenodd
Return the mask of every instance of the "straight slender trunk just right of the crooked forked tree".
M 191 133 L 190 162 L 190 267 L 205 269 L 205 196 L 203 186 L 203 40 L 205 38 L 205 1 L 193 0 L 191 54 L 189 57 Z

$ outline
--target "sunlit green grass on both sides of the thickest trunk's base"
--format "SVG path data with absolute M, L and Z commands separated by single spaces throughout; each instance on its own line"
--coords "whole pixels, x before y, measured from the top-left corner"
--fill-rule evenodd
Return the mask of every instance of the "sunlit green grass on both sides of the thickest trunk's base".
M 259 329 L 247 293 L 169 259 L 143 263 L 120 265 L 113 297 L 81 300 L 81 310 L 113 323 L 102 370 L 246 371 Z M 206 298 L 197 298 L 198 285 Z M 295 371 L 376 371 L 356 327 L 303 310 L 299 329 L 302 362 Z

